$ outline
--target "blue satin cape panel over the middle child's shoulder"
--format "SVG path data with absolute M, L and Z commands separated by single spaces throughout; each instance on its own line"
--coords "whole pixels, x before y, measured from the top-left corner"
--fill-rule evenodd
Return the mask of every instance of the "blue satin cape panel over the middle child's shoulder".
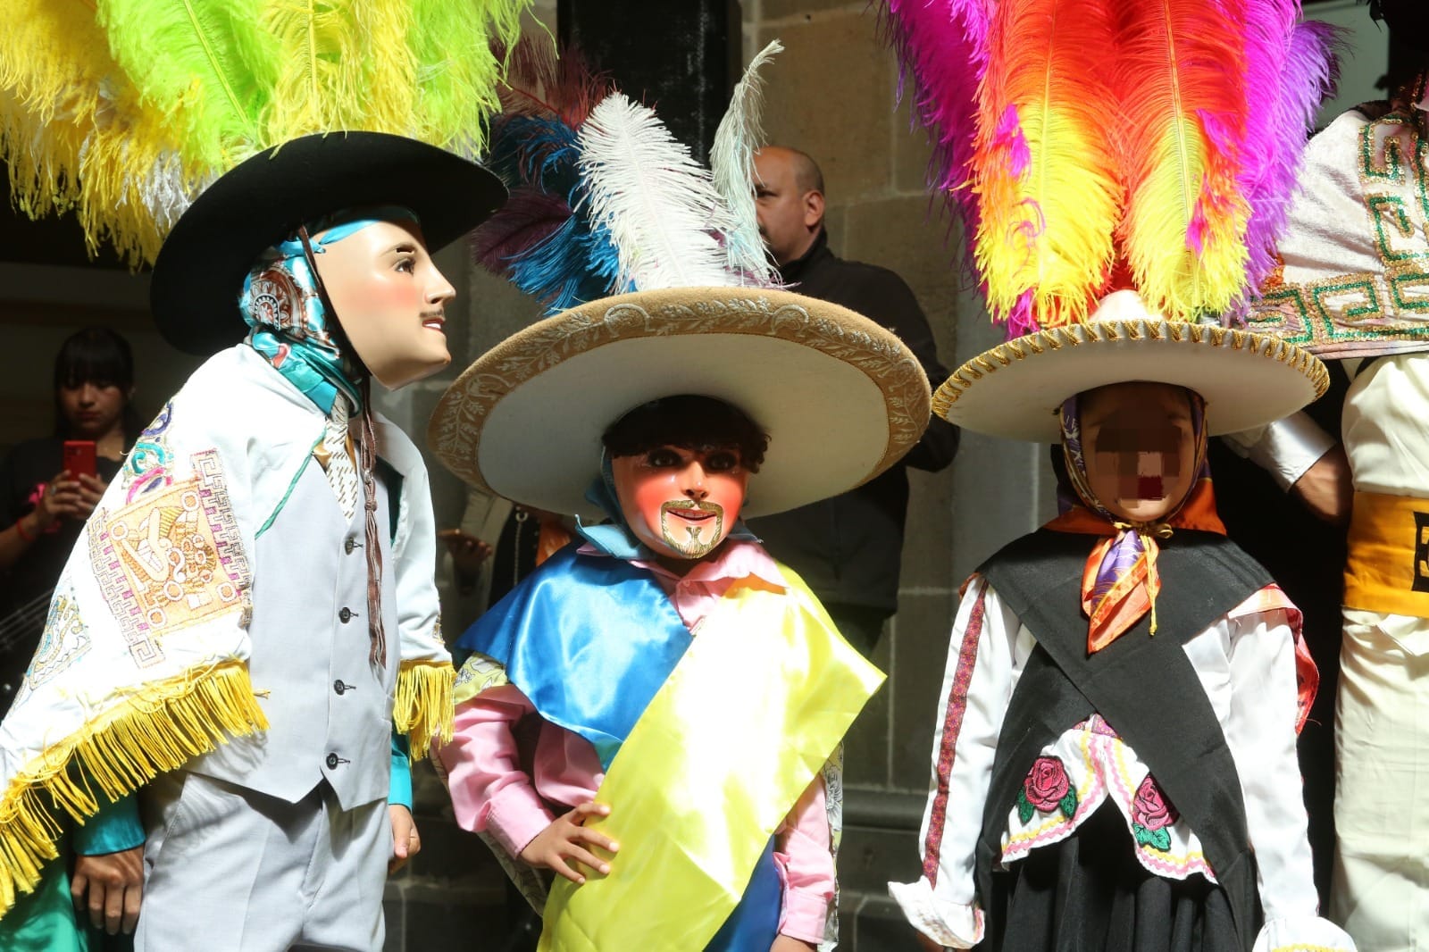
M 650 572 L 577 547 L 542 563 L 457 646 L 500 662 L 542 718 L 583 736 L 610 769 L 690 632 Z

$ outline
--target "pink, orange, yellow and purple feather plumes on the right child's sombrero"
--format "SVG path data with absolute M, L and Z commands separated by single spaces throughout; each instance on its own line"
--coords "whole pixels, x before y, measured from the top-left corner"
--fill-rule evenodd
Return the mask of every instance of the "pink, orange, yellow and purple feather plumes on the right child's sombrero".
M 886 0 L 1009 336 L 1135 284 L 1172 320 L 1233 314 L 1272 267 L 1335 34 L 1296 0 Z

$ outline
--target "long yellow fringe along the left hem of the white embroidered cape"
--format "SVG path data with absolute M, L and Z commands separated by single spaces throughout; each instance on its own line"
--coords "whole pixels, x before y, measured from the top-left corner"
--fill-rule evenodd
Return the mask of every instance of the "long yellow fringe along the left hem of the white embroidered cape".
M 84 822 L 99 809 L 91 780 L 117 800 L 229 736 L 266 728 L 247 666 L 229 660 L 143 685 L 44 750 L 0 800 L 0 916 L 14 905 L 16 889 L 34 892 L 40 868 L 59 856 L 57 813 Z

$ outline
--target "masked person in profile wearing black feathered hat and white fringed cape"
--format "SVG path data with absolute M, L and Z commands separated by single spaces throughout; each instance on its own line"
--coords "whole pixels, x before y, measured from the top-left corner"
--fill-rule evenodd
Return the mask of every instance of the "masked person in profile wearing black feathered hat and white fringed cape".
M 167 113 L 176 123 L 190 109 L 221 113 L 221 96 L 204 99 L 214 84 L 244 90 L 252 111 L 214 133 L 226 156 L 250 156 L 231 169 L 184 152 L 203 139 L 194 130 L 134 143 L 164 153 L 154 174 L 186 190 L 171 229 L 160 226 L 174 209 L 159 204 L 91 227 L 137 254 L 167 230 L 154 319 L 174 346 L 213 356 L 96 506 L 0 725 L 3 945 L 84 948 L 60 859 L 73 820 L 76 903 L 110 933 L 137 921 L 137 949 L 380 949 L 384 878 L 420 845 L 409 753 L 449 735 L 454 670 L 426 469 L 373 409 L 370 385 L 449 363 L 442 312 L 454 292 L 429 249 L 490 216 L 504 189 L 417 139 L 296 134 L 323 111 L 302 97 L 287 104 L 310 114 L 264 126 L 277 87 L 254 84 L 267 76 L 254 61 L 286 43 L 273 10 L 242 39 L 193 20 L 207 50 L 233 54 L 219 57 L 221 77 L 186 73 L 159 20 L 134 36 L 111 10 L 106 34 L 93 11 L 64 30 L 54 10 L 30 13 L 24 29 L 49 27 L 43 49 L 71 54 L 71 73 L 113 51 L 103 70 L 119 116 L 103 122 L 160 127 L 124 107 L 163 81 L 184 90 Z M 484 17 L 472 26 L 484 31 Z M 31 103 L 40 79 L 21 70 Z M 327 84 L 307 94 L 337 101 Z M 30 120 L 54 146 L 23 156 L 36 174 L 76 174 L 63 146 L 77 132 Z M 436 126 L 399 124 L 456 144 Z M 100 147 L 97 126 L 80 132 Z M 93 193 L 111 172 L 74 179 L 81 210 L 100 207 Z M 156 182 L 129 182 L 127 194 L 157 196 Z

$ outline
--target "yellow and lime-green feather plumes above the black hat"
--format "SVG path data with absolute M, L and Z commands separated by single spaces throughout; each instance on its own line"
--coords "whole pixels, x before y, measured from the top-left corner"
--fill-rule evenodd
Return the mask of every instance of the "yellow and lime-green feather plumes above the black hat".
M 19 6 L 16 6 L 19 4 Z M 0 31 L 0 157 L 31 216 L 153 262 L 213 179 L 327 130 L 474 157 L 530 0 L 16 0 Z

